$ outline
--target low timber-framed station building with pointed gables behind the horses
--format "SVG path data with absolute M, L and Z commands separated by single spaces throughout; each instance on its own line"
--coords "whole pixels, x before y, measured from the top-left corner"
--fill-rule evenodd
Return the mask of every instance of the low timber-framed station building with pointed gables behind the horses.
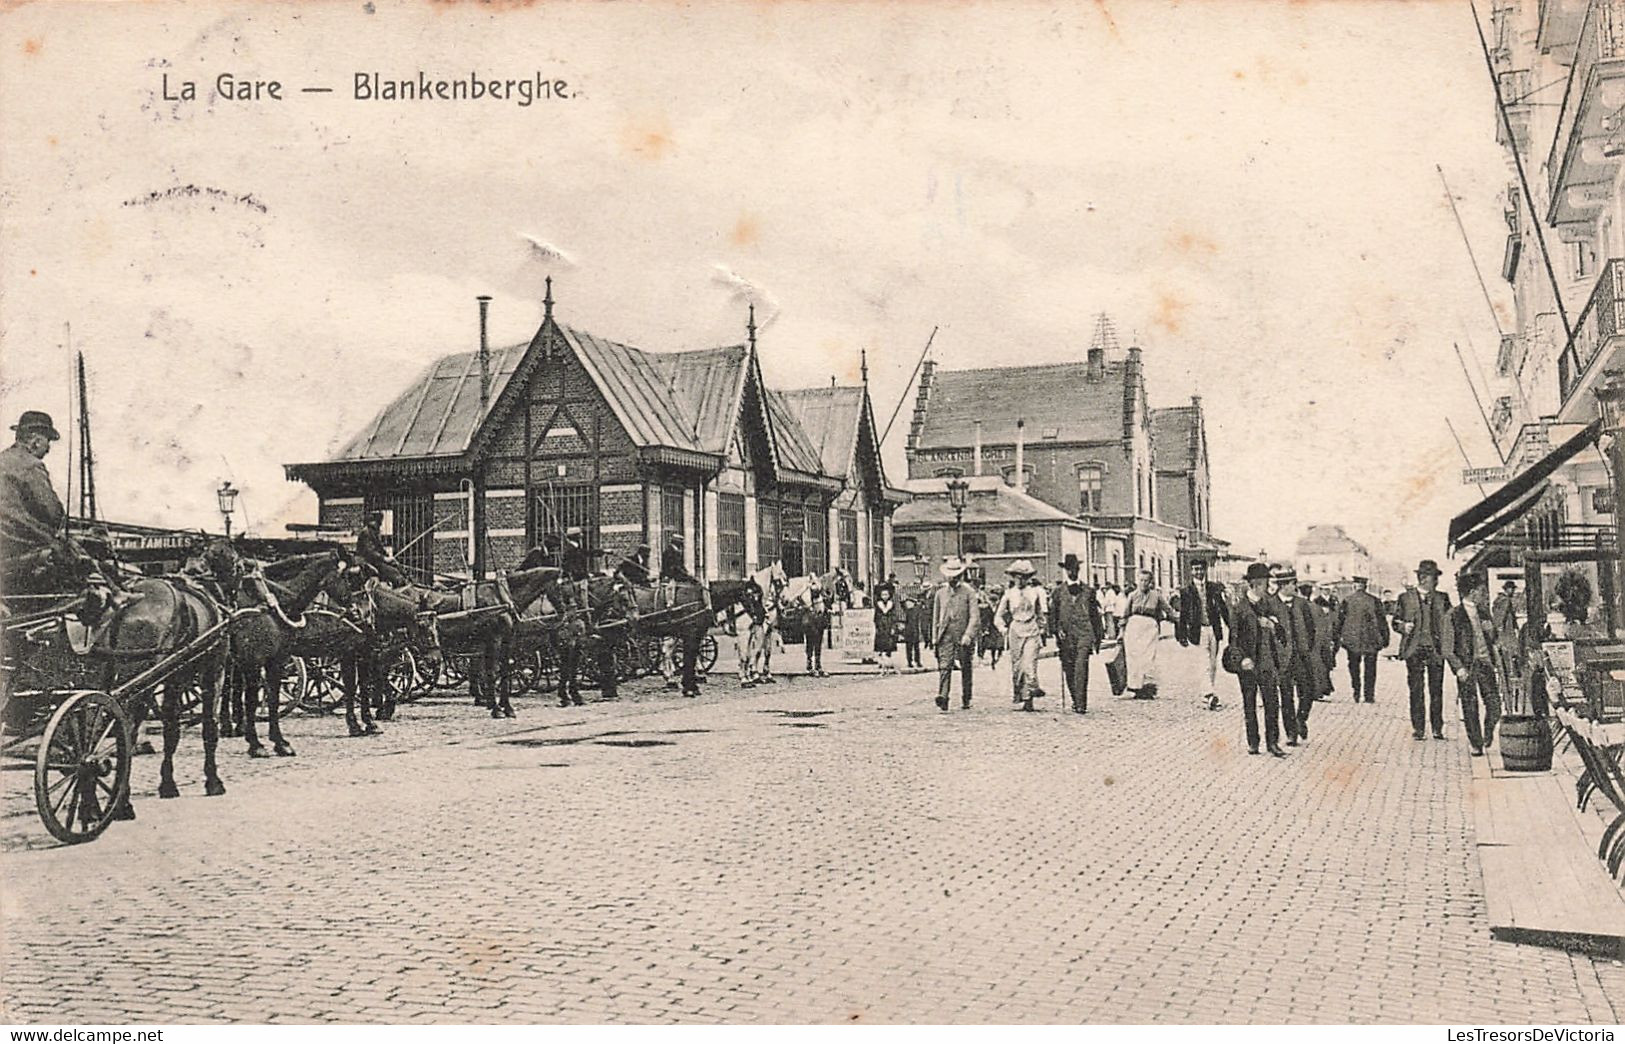
M 881 463 L 868 381 L 769 389 L 754 312 L 746 341 L 647 351 L 554 317 L 525 343 L 486 343 L 422 371 L 330 460 L 289 463 L 323 527 L 382 511 L 396 561 L 419 577 L 512 569 L 549 533 L 582 530 L 614 566 L 686 537 L 687 568 L 739 577 L 890 569 L 907 493 Z

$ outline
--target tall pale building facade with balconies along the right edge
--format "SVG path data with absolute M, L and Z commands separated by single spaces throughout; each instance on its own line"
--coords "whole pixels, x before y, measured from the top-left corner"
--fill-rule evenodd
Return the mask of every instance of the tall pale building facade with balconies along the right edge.
M 1492 0 L 1482 29 L 1514 301 L 1485 407 L 1516 478 L 1597 421 L 1602 372 L 1625 366 L 1625 0 Z M 1614 524 L 1604 457 L 1581 442 L 1503 535 L 1539 545 Z

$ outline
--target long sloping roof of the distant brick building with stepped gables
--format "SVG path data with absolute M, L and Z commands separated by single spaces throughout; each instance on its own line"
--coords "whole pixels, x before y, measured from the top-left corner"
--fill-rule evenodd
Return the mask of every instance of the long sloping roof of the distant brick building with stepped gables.
M 1029 444 L 1120 441 L 1126 371 L 1123 361 L 1107 363 L 1090 381 L 1087 363 L 939 369 L 915 449 L 970 446 L 977 420 L 991 446 L 1016 442 L 1017 420 L 1027 421 Z

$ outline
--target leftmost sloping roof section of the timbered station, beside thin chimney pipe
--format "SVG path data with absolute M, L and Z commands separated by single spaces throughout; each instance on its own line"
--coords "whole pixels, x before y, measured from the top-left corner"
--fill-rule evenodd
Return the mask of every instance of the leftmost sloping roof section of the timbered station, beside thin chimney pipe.
M 491 351 L 491 402 L 507 387 L 525 348 L 510 345 Z M 419 372 L 332 460 L 455 457 L 468 449 L 478 426 L 479 353 L 458 351 Z

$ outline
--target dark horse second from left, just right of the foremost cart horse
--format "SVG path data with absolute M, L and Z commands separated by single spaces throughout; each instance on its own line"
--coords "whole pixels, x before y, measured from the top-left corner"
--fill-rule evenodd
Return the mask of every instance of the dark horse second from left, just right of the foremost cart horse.
M 226 735 L 232 735 L 234 725 L 240 727 L 249 756 L 268 758 L 254 727 L 263 685 L 271 748 L 280 758 L 292 758 L 294 748 L 283 737 L 281 724 L 283 672 L 297 654 L 302 631 L 310 626 L 306 610 L 338 572 L 340 555 L 315 551 L 263 566 L 239 558 L 229 543 L 219 542 L 205 551 L 203 561 L 226 585 L 229 605 L 260 610 L 232 628 L 232 678 L 229 698 L 221 701 L 221 727 Z

